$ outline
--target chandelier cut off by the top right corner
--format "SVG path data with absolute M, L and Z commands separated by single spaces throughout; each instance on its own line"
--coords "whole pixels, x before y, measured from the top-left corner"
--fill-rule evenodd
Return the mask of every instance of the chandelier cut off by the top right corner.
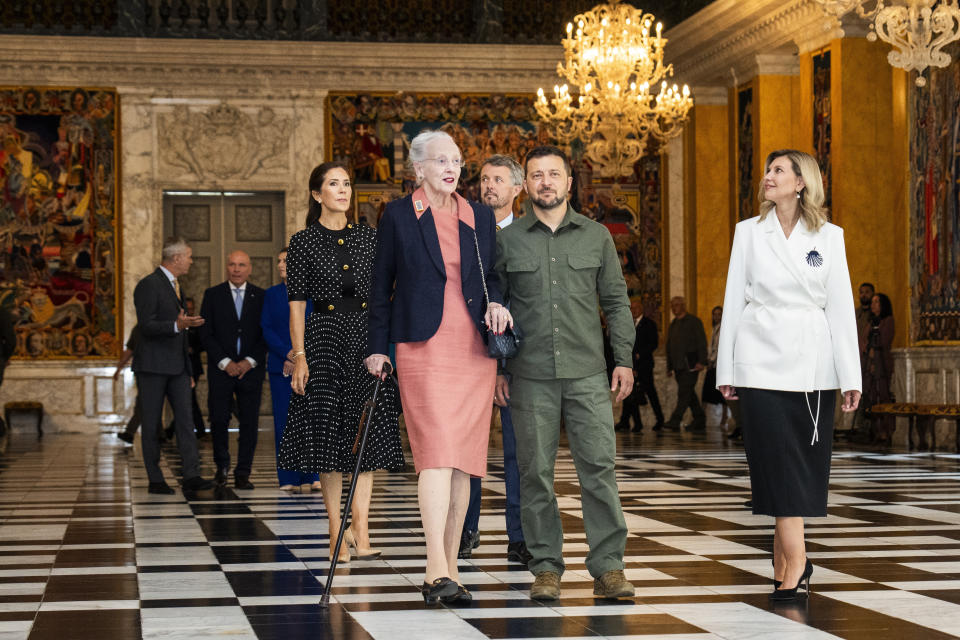
M 855 10 L 872 20 L 867 39 L 879 37 L 894 46 L 887 61 L 894 67 L 917 71 L 917 86 L 927 84 L 927 67 L 946 67 L 950 54 L 943 47 L 960 38 L 957 0 L 817 0 L 827 13 L 841 17 Z M 894 4 L 895 3 L 895 4 Z M 867 7 L 873 5 L 872 8 Z

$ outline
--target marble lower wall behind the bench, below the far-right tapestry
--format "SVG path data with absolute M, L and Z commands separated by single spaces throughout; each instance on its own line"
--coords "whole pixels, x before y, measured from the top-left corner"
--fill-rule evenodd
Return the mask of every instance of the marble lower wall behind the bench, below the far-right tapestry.
M 893 390 L 900 402 L 960 404 L 960 346 L 912 347 L 893 350 Z M 938 420 L 938 449 L 954 450 L 952 422 Z M 894 439 L 907 444 L 907 419 L 897 421 Z

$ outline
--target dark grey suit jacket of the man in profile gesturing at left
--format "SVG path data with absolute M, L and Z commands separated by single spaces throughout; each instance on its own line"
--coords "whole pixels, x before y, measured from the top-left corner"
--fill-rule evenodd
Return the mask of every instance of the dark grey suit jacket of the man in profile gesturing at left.
M 133 290 L 133 306 L 140 327 L 139 348 L 133 354 L 136 373 L 192 375 L 187 332 L 176 330 L 180 300 L 166 274 L 157 267 Z

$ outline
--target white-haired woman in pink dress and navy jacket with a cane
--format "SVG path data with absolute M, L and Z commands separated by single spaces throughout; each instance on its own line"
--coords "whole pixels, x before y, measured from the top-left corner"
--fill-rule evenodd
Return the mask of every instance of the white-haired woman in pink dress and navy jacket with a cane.
M 496 380 L 481 322 L 502 332 L 513 320 L 493 271 L 493 212 L 455 192 L 463 156 L 453 138 L 419 134 L 410 161 L 419 186 L 386 206 L 377 229 L 366 363 L 382 375 L 388 345 L 397 344 L 427 541 L 424 601 L 466 602 L 457 551 L 470 477 L 486 474 Z

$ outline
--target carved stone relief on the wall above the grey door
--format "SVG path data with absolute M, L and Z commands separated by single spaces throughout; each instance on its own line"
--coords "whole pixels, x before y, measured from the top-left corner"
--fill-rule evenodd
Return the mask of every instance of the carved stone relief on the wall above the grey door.
M 291 118 L 269 107 L 249 114 L 226 103 L 206 112 L 180 105 L 158 114 L 160 159 L 198 180 L 248 179 L 289 170 Z

